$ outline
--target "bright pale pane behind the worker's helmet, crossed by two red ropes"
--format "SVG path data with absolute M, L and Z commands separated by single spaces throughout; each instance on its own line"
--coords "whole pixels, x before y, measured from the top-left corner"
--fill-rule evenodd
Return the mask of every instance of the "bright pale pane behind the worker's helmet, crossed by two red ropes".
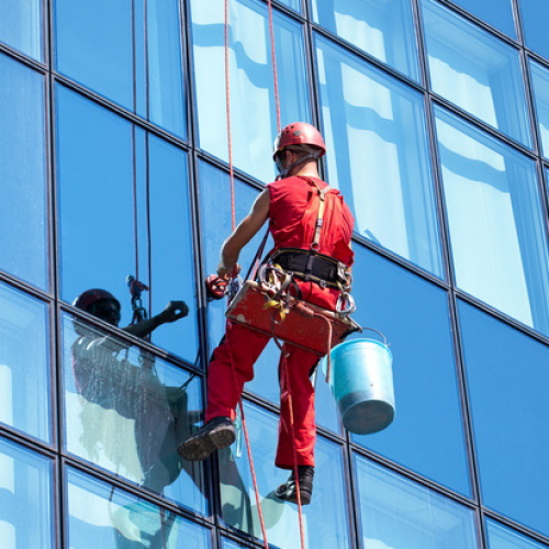
M 223 0 L 192 0 L 192 35 L 200 147 L 227 160 Z M 274 85 L 267 5 L 235 0 L 231 8 L 231 121 L 234 165 L 274 178 Z M 281 124 L 310 122 L 302 29 L 274 12 Z

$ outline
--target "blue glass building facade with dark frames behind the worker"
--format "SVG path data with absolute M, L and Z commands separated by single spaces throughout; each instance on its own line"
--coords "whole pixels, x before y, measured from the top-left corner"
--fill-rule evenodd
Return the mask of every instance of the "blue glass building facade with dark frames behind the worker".
M 259 549 L 258 501 L 279 549 L 549 547 L 548 5 L 0 0 L 2 549 Z M 273 496 L 274 343 L 235 445 L 176 451 L 223 335 L 203 280 L 274 178 L 278 119 L 325 136 L 354 318 L 394 357 L 372 435 L 315 373 L 302 531 Z M 90 289 L 120 327 L 76 306 Z

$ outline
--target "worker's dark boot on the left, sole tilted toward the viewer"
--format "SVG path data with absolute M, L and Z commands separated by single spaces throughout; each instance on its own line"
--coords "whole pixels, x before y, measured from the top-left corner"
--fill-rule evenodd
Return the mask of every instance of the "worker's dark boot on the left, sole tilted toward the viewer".
M 192 437 L 179 445 L 177 451 L 187 461 L 203 461 L 213 451 L 231 446 L 236 430 L 231 417 L 219 416 L 210 419 Z

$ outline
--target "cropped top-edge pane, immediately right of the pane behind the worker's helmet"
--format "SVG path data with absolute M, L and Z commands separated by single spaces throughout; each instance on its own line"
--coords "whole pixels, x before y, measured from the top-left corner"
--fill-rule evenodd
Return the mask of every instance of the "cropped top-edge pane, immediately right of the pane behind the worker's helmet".
M 410 0 L 311 0 L 313 19 L 404 75 L 419 79 Z

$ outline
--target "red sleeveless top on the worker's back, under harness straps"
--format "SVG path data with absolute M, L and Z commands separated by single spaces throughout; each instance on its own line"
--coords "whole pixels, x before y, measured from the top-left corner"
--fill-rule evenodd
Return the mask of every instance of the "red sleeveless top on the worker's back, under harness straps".
M 269 229 L 274 248 L 311 249 L 318 215 L 318 191 L 327 183 L 321 179 L 292 176 L 267 186 L 269 189 Z M 323 226 L 318 240 L 318 254 L 329 256 L 350 266 L 354 251 L 350 239 L 355 219 L 337 189 L 325 195 Z

